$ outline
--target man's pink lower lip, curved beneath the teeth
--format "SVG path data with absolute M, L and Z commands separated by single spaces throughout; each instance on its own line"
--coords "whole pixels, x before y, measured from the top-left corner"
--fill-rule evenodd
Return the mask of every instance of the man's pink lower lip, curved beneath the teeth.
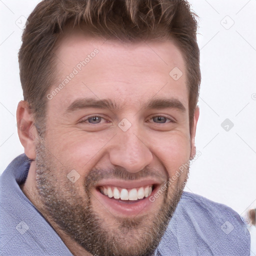
M 149 201 L 149 197 L 153 196 L 157 191 L 157 187 L 153 189 L 150 195 L 140 199 L 139 201 L 129 200 L 119 201 L 118 199 L 109 198 L 107 195 L 102 194 L 98 189 L 96 190 L 96 197 L 99 202 L 111 213 L 113 214 L 122 214 L 125 216 L 135 216 L 138 214 L 143 214 L 150 210 L 153 207 L 154 202 Z

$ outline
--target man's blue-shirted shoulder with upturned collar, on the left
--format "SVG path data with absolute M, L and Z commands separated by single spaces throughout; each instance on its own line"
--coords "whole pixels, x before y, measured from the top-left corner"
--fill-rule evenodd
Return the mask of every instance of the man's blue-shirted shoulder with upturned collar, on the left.
M 21 191 L 19 184 L 25 180 L 28 169 L 29 160 L 22 154 L 0 176 L 0 254 L 72 255 Z

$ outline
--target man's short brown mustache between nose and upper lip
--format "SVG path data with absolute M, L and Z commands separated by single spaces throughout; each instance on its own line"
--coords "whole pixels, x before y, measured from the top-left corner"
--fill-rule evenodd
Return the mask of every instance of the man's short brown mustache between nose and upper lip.
M 141 178 L 155 178 L 159 182 L 166 182 L 167 171 L 164 169 L 153 169 L 145 167 L 142 170 L 132 173 L 123 167 L 114 168 L 93 168 L 85 176 L 84 186 L 87 189 L 94 187 L 99 181 L 105 179 L 138 180 Z

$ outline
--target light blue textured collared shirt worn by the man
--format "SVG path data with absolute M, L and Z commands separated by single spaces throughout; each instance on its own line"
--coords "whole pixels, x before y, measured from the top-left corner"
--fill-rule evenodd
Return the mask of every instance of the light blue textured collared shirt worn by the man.
M 18 184 L 28 169 L 21 154 L 0 177 L 0 255 L 72 255 L 21 191 Z M 234 210 L 184 191 L 155 255 L 246 256 L 249 251 L 249 232 Z

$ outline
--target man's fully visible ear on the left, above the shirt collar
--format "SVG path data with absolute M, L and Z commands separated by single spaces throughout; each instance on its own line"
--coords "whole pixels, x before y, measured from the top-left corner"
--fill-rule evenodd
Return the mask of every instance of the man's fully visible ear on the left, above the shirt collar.
M 28 158 L 35 159 L 35 145 L 38 135 L 34 126 L 32 110 L 29 108 L 27 101 L 19 101 L 16 120 L 18 137 L 24 147 L 24 152 Z

